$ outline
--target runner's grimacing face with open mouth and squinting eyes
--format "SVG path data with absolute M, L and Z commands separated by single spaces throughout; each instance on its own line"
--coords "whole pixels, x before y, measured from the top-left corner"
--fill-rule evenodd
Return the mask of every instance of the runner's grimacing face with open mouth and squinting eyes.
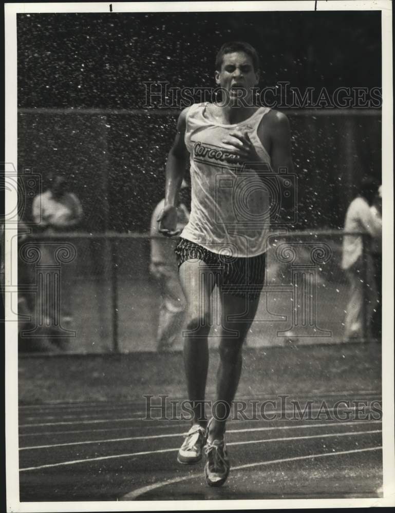
M 243 98 L 244 103 L 252 96 L 251 88 L 259 82 L 251 57 L 244 52 L 225 53 L 220 71 L 215 72 L 215 82 L 227 91 L 231 103 Z

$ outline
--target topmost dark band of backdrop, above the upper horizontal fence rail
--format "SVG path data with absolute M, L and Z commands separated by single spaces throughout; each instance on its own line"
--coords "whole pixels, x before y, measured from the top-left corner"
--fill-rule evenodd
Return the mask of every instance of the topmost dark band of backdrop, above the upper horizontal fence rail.
M 255 46 L 262 85 L 380 86 L 380 12 L 18 15 L 21 107 L 143 105 L 144 81 L 214 86 L 229 40 Z

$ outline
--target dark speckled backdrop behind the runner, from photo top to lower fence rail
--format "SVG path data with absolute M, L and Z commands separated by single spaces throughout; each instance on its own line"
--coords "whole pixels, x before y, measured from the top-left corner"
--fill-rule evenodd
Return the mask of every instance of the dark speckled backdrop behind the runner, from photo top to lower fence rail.
M 177 109 L 95 110 L 142 108 L 144 81 L 214 87 L 216 51 L 238 39 L 258 49 L 262 87 L 381 86 L 380 12 L 19 14 L 17 31 L 18 169 L 68 176 L 90 231 L 146 231 L 163 196 Z M 296 226 L 342 227 L 362 174 L 380 179 L 380 117 L 289 117 Z

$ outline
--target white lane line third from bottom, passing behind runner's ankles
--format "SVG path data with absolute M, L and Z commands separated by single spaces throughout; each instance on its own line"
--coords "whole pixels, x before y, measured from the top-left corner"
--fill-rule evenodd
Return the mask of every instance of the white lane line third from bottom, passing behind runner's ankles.
M 359 421 L 358 425 L 361 424 L 371 424 L 374 422 L 381 422 L 381 421 Z M 244 429 L 229 429 L 227 430 L 227 433 L 247 433 L 247 432 L 258 432 L 258 431 L 276 431 L 281 429 L 305 429 L 305 428 L 312 428 L 312 427 L 331 427 L 331 426 L 354 426 L 355 421 L 353 422 L 331 422 L 326 424 L 310 424 L 310 425 L 299 425 L 299 426 L 273 426 L 273 427 L 257 427 L 257 428 L 244 428 Z M 63 444 L 51 444 L 51 445 L 33 445 L 29 447 L 20 447 L 19 450 L 27 450 L 27 449 L 48 449 L 50 447 L 64 447 L 69 445 L 83 445 L 83 444 L 98 444 L 98 443 L 107 443 L 107 442 L 123 442 L 123 441 L 130 441 L 130 440 L 153 440 L 157 438 L 171 438 L 171 437 L 182 437 L 184 433 L 168 433 L 168 435 L 150 435 L 145 437 L 127 437 L 127 438 L 113 438 L 113 439 L 106 439 L 106 440 L 87 440 L 83 442 L 68 442 Z M 228 444 L 229 445 L 229 444 Z

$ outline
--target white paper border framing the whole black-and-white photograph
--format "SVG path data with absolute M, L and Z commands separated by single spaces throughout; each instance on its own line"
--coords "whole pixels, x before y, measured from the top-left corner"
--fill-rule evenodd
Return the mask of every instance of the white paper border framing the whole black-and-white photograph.
M 17 13 L 87 13 L 109 12 L 108 3 L 15 3 L 5 4 L 5 66 L 6 66 L 6 163 L 17 169 Z M 232 501 L 84 501 L 84 502 L 20 502 L 18 475 L 18 360 L 17 315 L 6 294 L 6 473 L 7 511 L 158 511 L 195 509 L 283 509 L 313 507 L 369 507 L 395 505 L 394 459 L 394 350 L 393 350 L 393 148 L 392 148 L 392 6 L 390 0 L 322 1 L 317 2 L 117 2 L 112 12 L 189 12 L 189 11 L 357 11 L 380 10 L 382 14 L 382 173 L 383 173 L 383 499 L 305 499 L 305 500 L 232 500 Z M 16 206 L 16 190 L 6 191 L 6 212 Z M 11 241 L 17 235 L 16 224 L 5 230 L 6 287 L 10 287 L 10 269 L 16 269 L 16 254 Z M 15 308 L 14 308 L 15 309 Z

